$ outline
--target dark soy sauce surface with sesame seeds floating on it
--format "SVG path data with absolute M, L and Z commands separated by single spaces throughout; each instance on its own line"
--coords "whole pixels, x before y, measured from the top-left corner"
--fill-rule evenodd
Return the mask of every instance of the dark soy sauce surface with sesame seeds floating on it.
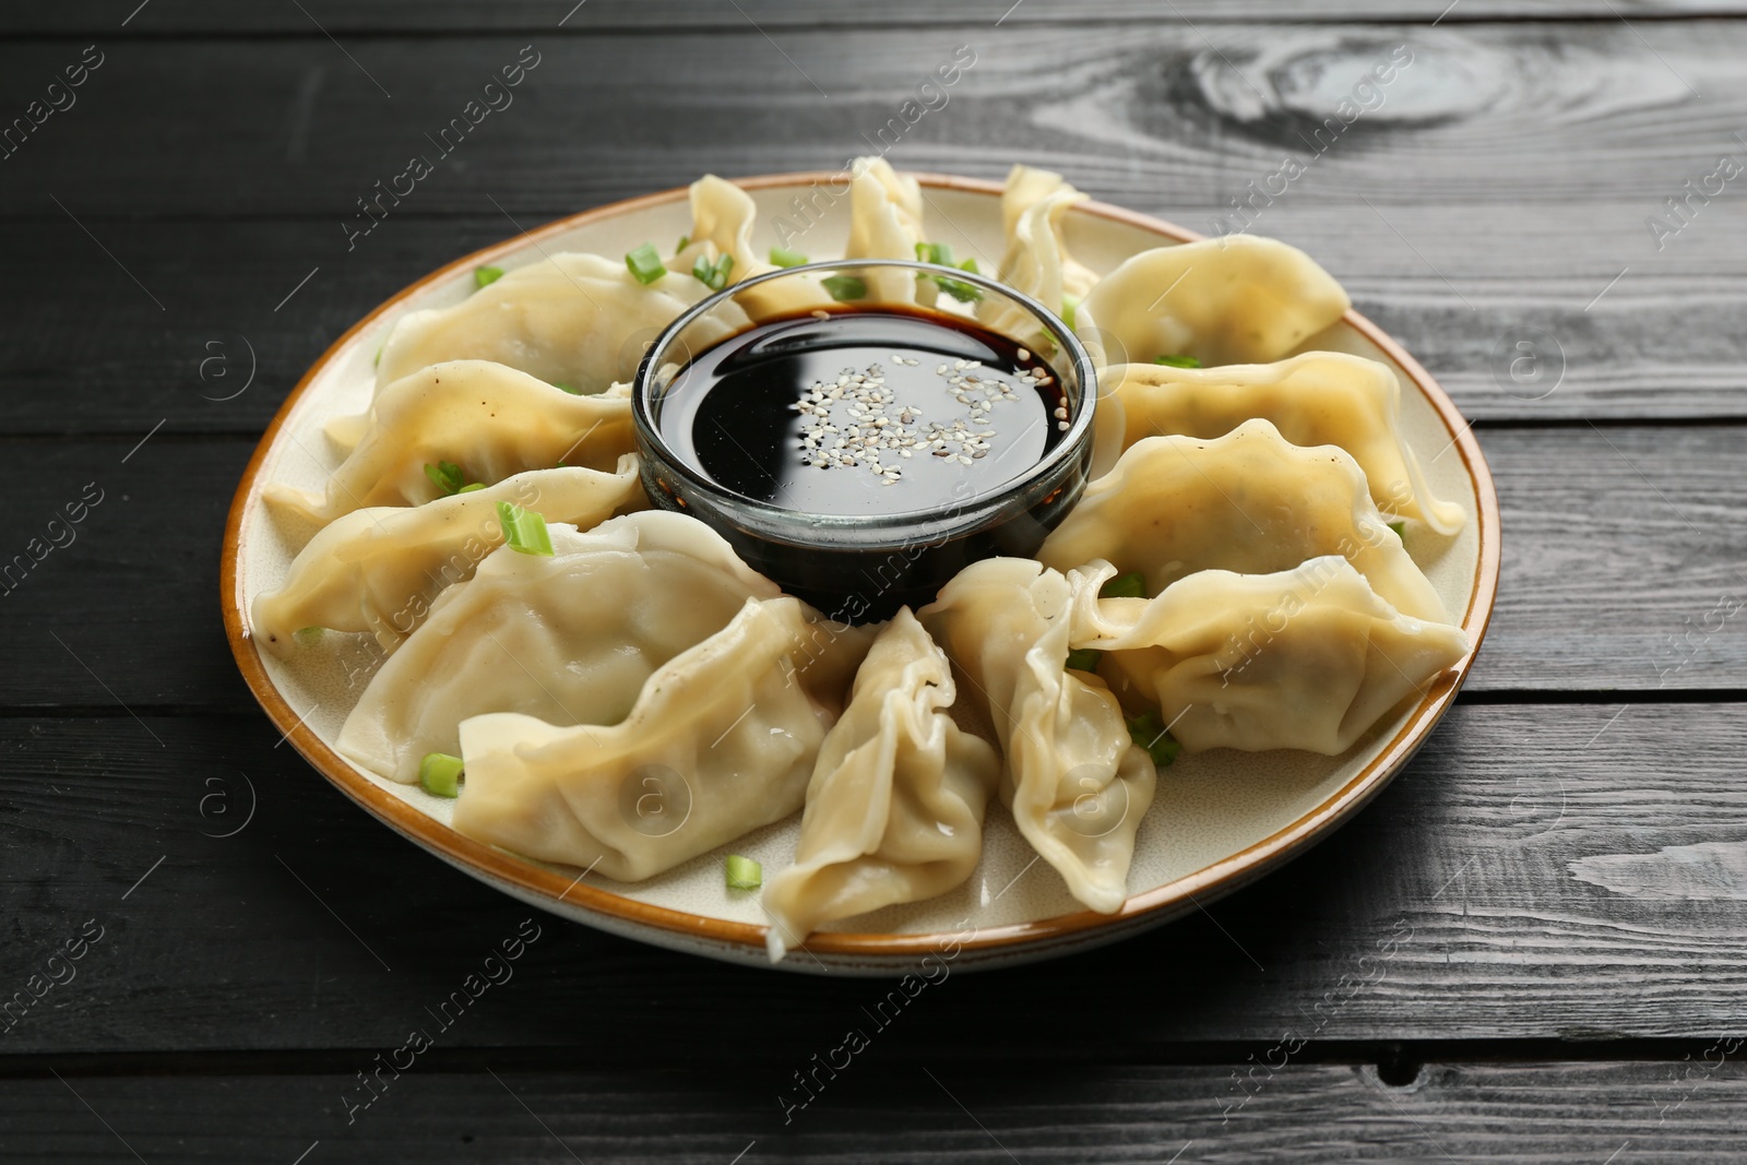
M 898 306 L 730 337 L 674 376 L 659 424 L 723 489 L 818 515 L 994 493 L 1069 428 L 1060 379 L 1038 353 L 975 320 Z

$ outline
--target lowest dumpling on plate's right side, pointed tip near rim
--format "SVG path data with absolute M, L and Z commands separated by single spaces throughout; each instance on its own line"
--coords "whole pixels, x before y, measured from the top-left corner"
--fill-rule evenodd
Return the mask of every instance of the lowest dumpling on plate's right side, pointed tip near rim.
M 1191 753 L 1338 756 L 1467 655 L 1460 627 L 1398 613 L 1347 559 L 1274 575 L 1200 571 L 1155 599 L 1099 599 L 1108 562 L 1074 571 L 1076 648 L 1104 651 Z

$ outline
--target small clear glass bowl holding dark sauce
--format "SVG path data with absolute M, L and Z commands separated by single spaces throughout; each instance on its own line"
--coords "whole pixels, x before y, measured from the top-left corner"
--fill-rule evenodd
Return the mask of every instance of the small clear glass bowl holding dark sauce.
M 975 288 L 980 302 L 963 304 L 940 293 L 931 307 L 922 307 L 891 297 L 893 290 L 901 295 L 912 286 L 926 293 L 933 290 L 929 281 L 942 278 L 966 295 L 966 286 Z M 839 300 L 821 288 L 837 288 L 839 293 L 860 288 L 863 297 Z M 891 512 L 809 514 L 732 489 L 711 477 L 695 454 L 687 456 L 680 442 L 664 435 L 666 410 L 676 409 L 674 421 L 683 423 L 678 410 L 695 410 L 697 405 L 676 402 L 687 391 L 709 391 L 708 386 L 688 386 L 685 376 L 688 365 L 709 349 L 772 321 L 798 323 L 807 316 L 856 311 L 908 314 L 919 307 L 921 314 L 959 318 L 1005 337 L 1027 356 L 1036 353 L 1032 360 L 1053 374 L 1060 388 L 1057 409 L 1066 410 L 1066 417 L 1060 412 L 1045 414 L 1046 424 L 1057 428 L 1053 444 L 1041 458 L 1015 465 L 1006 480 L 980 489 L 961 484 L 947 496 L 928 498 L 907 498 L 912 491 L 893 489 Z M 982 307 L 998 323 L 977 320 L 973 307 Z M 938 376 L 938 369 L 929 372 Z M 945 400 L 952 400 L 952 389 L 945 391 Z M 1092 358 L 1073 330 L 1043 304 L 970 271 L 896 259 L 818 262 L 742 279 L 674 320 L 650 346 L 632 388 L 632 419 L 650 500 L 660 508 L 701 519 L 783 590 L 851 624 L 889 618 L 900 606 L 933 601 L 947 580 L 978 559 L 1034 555 L 1085 491 L 1095 405 Z M 886 500 L 882 491 L 874 496 Z

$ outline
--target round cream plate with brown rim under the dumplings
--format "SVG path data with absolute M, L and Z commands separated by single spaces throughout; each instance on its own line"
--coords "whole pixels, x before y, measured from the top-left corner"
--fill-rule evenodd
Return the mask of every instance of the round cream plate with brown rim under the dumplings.
M 915 176 L 922 183 L 933 238 L 952 243 L 961 257 L 975 255 L 992 271 L 1003 250 L 1001 185 L 945 175 Z M 760 210 L 758 253 L 779 241 L 781 222 L 788 224 L 784 234 L 804 229 L 798 238 L 781 239 L 784 245 L 812 255 L 842 253 L 849 199 L 833 197 L 833 175 L 767 175 L 737 182 Z M 809 208 L 807 218 L 797 217 L 797 206 Z M 620 255 L 650 239 L 666 245 L 688 229 L 685 189 L 590 210 L 458 259 L 353 325 L 292 389 L 243 472 L 225 527 L 224 620 L 238 667 L 273 723 L 321 776 L 407 840 L 487 886 L 577 922 L 671 950 L 770 966 L 758 896 L 723 886 L 725 851 L 631 886 L 461 837 L 449 828 L 454 802 L 367 774 L 334 751 L 346 713 L 370 674 L 374 650 L 365 638 L 355 638 L 356 643 L 335 653 L 307 653 L 285 664 L 257 650 L 246 618 L 255 594 L 278 585 L 292 555 L 313 533 L 288 529 L 283 515 L 269 515 L 260 498 L 264 486 L 323 487 L 339 465 L 323 424 L 363 412 L 376 353 L 398 316 L 465 299 L 479 265 L 508 269 L 566 250 Z M 1066 232 L 1074 257 L 1101 274 L 1136 252 L 1200 238 L 1101 203 L 1076 206 Z M 1370 356 L 1396 369 L 1403 386 L 1403 431 L 1426 465 L 1433 494 L 1455 500 L 1469 517 L 1450 538 L 1415 527 L 1408 548 L 1447 608 L 1460 611 L 1462 629 L 1478 650 L 1497 590 L 1499 503 L 1467 423 L 1399 344 L 1354 311 L 1303 348 Z M 1177 758 L 1160 774 L 1158 795 L 1136 844 L 1130 896 L 1113 915 L 1080 906 L 1060 877 L 1036 859 L 1012 817 L 991 807 L 984 856 L 964 886 L 929 901 L 828 924 L 777 966 L 804 973 L 901 975 L 924 968 L 924 959 L 929 966 L 950 959 L 954 969 L 992 968 L 1062 955 L 1160 926 L 1277 868 L 1377 796 L 1450 709 L 1473 658 L 1469 651 L 1433 681 L 1424 699 L 1380 721 L 1343 756 L 1218 749 Z M 795 814 L 734 842 L 732 849 L 760 859 L 767 870 L 779 870 L 791 863 L 798 831 L 800 814 Z

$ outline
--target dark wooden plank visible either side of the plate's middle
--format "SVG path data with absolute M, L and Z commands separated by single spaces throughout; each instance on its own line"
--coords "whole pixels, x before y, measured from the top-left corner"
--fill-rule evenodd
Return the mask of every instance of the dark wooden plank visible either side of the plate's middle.
M 0 442 L 35 500 L 0 514 L 0 657 L 31 662 L 0 671 L 0 707 L 252 707 L 217 568 L 253 442 L 159 433 L 135 451 L 143 435 Z M 1740 426 L 1492 428 L 1481 445 L 1504 571 L 1469 692 L 1747 688 Z M 75 541 L 31 564 L 91 484 L 105 500 Z

